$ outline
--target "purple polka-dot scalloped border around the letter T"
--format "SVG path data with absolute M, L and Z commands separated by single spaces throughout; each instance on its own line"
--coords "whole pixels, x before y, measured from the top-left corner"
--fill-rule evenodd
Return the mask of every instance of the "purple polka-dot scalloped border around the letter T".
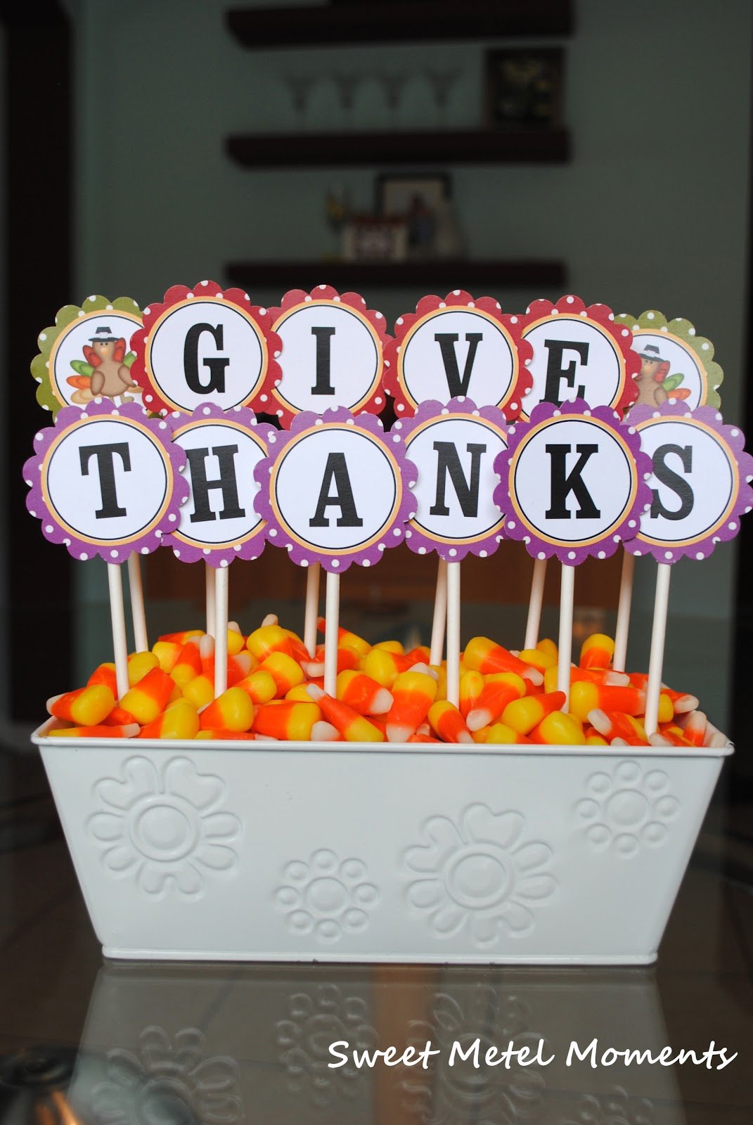
M 63 528 L 56 522 L 55 513 L 50 511 L 42 493 L 42 466 L 53 441 L 60 438 L 61 432 L 74 422 L 98 415 L 127 417 L 138 422 L 144 429 L 151 431 L 167 450 L 172 466 L 172 494 L 162 519 L 150 531 L 127 543 L 126 547 L 116 548 L 107 543 L 90 543 L 84 539 L 71 536 L 68 528 Z M 179 508 L 181 504 L 186 503 L 189 494 L 188 482 L 182 476 L 186 468 L 186 454 L 179 446 L 172 443 L 174 429 L 172 420 L 150 417 L 149 412 L 137 403 L 114 406 L 109 399 L 95 398 L 91 403 L 87 403 L 86 407 L 62 407 L 55 415 L 54 426 L 38 431 L 34 439 L 35 453 L 24 465 L 24 479 L 30 489 L 26 497 L 26 506 L 35 519 L 42 521 L 42 534 L 45 539 L 48 539 L 51 543 L 62 543 L 74 559 L 87 560 L 99 556 L 106 562 L 125 562 L 134 551 L 138 555 L 151 555 L 158 547 L 161 547 L 164 537 L 177 524 Z

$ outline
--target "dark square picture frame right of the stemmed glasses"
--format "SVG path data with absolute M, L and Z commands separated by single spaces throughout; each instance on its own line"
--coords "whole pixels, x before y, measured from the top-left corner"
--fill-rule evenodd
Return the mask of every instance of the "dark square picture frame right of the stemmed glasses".
M 495 47 L 485 52 L 484 125 L 555 129 L 563 124 L 562 47 Z

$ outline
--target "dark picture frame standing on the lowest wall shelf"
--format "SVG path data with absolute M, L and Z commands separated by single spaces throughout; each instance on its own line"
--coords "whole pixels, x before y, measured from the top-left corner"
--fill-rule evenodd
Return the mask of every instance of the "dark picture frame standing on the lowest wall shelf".
M 446 172 L 386 172 L 377 177 L 376 210 L 405 222 L 409 256 L 430 256 L 436 252 L 437 232 L 451 195 L 452 180 Z

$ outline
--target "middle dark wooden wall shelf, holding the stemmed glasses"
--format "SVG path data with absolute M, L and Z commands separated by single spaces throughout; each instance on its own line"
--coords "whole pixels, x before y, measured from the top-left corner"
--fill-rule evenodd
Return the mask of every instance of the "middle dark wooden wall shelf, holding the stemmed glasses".
M 564 163 L 567 129 L 452 133 L 243 134 L 225 138 L 243 168 L 349 166 L 353 164 Z

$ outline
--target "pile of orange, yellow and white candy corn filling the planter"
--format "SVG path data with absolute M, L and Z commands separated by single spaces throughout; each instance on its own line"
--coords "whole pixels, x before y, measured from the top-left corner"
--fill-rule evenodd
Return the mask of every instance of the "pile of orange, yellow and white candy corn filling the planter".
M 323 621 L 320 621 L 323 626 Z M 297 633 L 267 614 L 248 639 L 227 629 L 227 691 L 215 699 L 213 637 L 165 633 L 151 651 L 128 657 L 129 687 L 117 699 L 115 665 L 100 664 L 84 687 L 53 696 L 55 737 L 190 740 L 294 740 L 494 745 L 586 745 L 693 749 L 726 745 L 698 700 L 662 685 L 658 729 L 646 737 L 647 676 L 615 672 L 613 644 L 594 633 L 571 666 L 568 710 L 557 691 L 557 648 L 545 638 L 520 652 L 487 637 L 460 659 L 459 706 L 447 700 L 446 665 L 429 665 L 427 646 L 370 646 L 338 633 L 334 698 L 324 693 L 324 647 L 313 657 Z

